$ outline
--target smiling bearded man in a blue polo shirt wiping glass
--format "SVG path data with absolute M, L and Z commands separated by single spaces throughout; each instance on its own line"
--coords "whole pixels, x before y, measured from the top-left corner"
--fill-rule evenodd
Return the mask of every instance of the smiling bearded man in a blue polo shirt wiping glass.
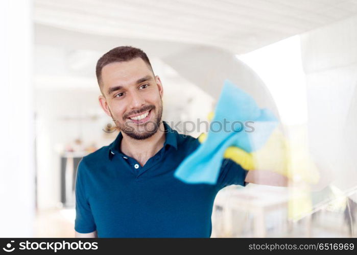
M 176 179 L 200 143 L 161 120 L 163 87 L 147 55 L 116 47 L 96 73 L 100 105 L 121 132 L 79 164 L 76 237 L 210 237 L 217 192 L 254 182 L 254 173 L 225 159 L 216 185 Z

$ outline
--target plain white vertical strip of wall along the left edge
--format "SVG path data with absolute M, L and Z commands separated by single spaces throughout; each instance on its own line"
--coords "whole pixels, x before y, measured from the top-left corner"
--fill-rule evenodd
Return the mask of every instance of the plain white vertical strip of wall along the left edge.
M 0 237 L 32 237 L 32 1 L 0 1 Z

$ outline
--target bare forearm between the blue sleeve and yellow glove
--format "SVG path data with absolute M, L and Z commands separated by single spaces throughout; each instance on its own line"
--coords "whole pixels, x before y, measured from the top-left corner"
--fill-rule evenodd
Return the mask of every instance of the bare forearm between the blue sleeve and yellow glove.
M 247 173 L 245 182 L 261 185 L 288 187 L 289 180 L 284 175 L 268 170 L 250 170 Z

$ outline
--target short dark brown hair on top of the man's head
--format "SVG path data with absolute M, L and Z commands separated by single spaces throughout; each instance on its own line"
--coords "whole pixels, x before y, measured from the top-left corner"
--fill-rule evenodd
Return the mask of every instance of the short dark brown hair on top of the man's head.
M 135 48 L 132 46 L 120 46 L 109 50 L 106 54 L 104 54 L 97 62 L 96 66 L 96 74 L 97 81 L 99 87 L 101 88 L 101 79 L 102 79 L 102 69 L 105 65 L 114 62 L 126 62 L 135 58 L 141 58 L 145 63 L 148 64 L 150 69 L 153 71 L 153 68 L 150 64 L 150 60 L 145 52 L 143 52 L 139 48 Z M 154 71 L 153 71 L 154 73 Z

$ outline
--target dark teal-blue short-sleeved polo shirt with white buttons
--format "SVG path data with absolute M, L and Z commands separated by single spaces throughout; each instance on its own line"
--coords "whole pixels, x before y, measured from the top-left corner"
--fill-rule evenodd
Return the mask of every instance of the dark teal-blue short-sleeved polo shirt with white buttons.
M 98 237 L 210 237 L 216 194 L 228 185 L 246 186 L 248 173 L 222 160 L 218 182 L 185 184 L 178 165 L 199 145 L 163 121 L 163 147 L 144 166 L 120 150 L 122 133 L 85 156 L 76 177 L 75 230 Z

